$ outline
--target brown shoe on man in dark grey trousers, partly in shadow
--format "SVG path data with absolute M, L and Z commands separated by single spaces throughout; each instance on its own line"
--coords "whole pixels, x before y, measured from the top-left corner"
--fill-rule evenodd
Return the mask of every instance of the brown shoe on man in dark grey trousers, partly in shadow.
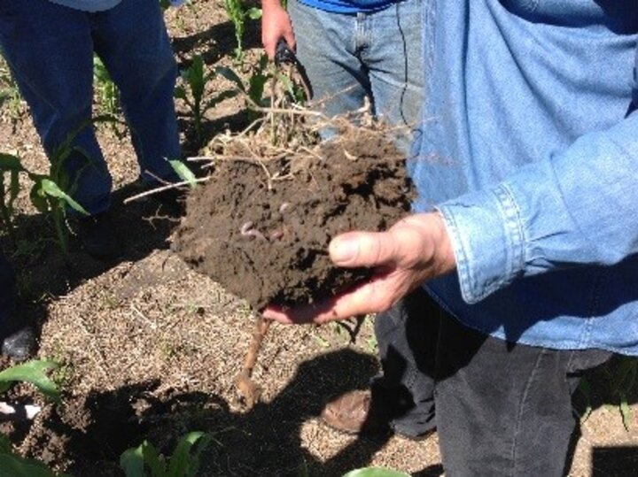
M 370 389 L 338 396 L 325 405 L 321 416 L 328 426 L 347 434 L 384 434 L 390 431 L 389 419 L 373 405 Z

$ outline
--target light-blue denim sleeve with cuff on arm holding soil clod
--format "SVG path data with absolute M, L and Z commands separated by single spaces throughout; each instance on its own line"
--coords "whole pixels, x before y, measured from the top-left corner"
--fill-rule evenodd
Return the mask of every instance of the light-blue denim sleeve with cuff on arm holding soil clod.
M 638 52 L 633 108 L 637 69 Z M 518 277 L 617 264 L 638 253 L 638 112 L 438 209 L 468 303 Z

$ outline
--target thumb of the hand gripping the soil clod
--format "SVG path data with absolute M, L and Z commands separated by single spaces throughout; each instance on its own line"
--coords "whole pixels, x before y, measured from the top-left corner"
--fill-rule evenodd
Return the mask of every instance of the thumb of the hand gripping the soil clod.
M 395 246 L 387 232 L 348 232 L 332 239 L 329 252 L 335 265 L 371 268 L 393 261 Z

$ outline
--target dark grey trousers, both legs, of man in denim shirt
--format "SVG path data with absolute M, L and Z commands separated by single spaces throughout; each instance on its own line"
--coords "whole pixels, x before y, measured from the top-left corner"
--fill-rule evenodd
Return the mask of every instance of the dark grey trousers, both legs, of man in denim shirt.
M 375 320 L 384 374 L 372 386 L 393 428 L 437 428 L 447 475 L 563 475 L 578 424 L 572 393 L 605 350 L 513 344 L 463 326 L 423 289 Z

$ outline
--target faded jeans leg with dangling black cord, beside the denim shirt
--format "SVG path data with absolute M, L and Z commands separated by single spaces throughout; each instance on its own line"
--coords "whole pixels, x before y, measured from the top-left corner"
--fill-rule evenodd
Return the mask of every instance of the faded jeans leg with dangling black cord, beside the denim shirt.
M 410 131 L 418 126 L 424 96 L 422 0 L 402 0 L 370 13 L 365 22 L 369 45 L 362 60 L 370 70 L 370 85 L 379 119 L 398 131 L 401 149 L 408 151 Z

